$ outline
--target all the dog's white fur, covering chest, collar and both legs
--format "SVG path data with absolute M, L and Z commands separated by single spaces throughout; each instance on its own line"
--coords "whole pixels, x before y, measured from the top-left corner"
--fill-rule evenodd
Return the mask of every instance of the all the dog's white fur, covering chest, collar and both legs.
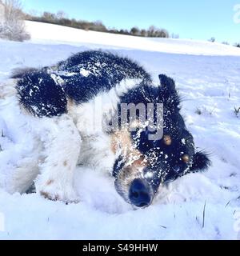
M 1 184 L 10 193 L 22 193 L 35 179 L 39 194 L 64 202 L 77 201 L 73 185 L 76 165 L 111 173 L 116 156 L 104 124 L 114 114 L 119 97 L 139 82 L 139 79 L 125 80 L 89 102 L 69 104 L 68 113 L 60 117 L 34 118 L 22 110 L 34 145 Z M 7 125 L 7 118 L 5 121 Z

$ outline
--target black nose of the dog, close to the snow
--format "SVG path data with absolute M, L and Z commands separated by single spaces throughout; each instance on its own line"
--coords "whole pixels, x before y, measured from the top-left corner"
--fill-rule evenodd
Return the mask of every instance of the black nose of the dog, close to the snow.
M 140 178 L 134 179 L 130 185 L 129 198 L 134 206 L 148 206 L 151 202 L 150 186 Z

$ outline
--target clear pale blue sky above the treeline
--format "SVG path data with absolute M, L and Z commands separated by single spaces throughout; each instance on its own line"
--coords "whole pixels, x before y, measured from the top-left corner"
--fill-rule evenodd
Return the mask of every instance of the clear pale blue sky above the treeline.
M 154 25 L 180 38 L 215 37 L 230 43 L 240 42 L 240 23 L 234 22 L 236 4 L 240 0 L 22 0 L 26 11 L 63 10 L 69 18 L 101 20 L 107 27 Z

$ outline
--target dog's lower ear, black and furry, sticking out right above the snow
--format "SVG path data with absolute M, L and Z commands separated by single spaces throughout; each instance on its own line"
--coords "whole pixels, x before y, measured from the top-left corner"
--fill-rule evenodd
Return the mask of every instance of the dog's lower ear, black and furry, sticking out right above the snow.
M 197 172 L 207 170 L 211 165 L 209 154 L 204 151 L 196 152 L 193 158 L 193 165 L 190 167 L 190 171 Z

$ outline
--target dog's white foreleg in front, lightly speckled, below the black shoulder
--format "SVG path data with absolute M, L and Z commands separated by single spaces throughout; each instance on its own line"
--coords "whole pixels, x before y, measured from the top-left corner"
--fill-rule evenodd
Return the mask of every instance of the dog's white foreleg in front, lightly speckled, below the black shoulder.
M 36 190 L 51 200 L 78 202 L 74 191 L 74 170 L 80 154 L 81 136 L 66 114 L 48 121 L 44 161 L 35 181 Z

